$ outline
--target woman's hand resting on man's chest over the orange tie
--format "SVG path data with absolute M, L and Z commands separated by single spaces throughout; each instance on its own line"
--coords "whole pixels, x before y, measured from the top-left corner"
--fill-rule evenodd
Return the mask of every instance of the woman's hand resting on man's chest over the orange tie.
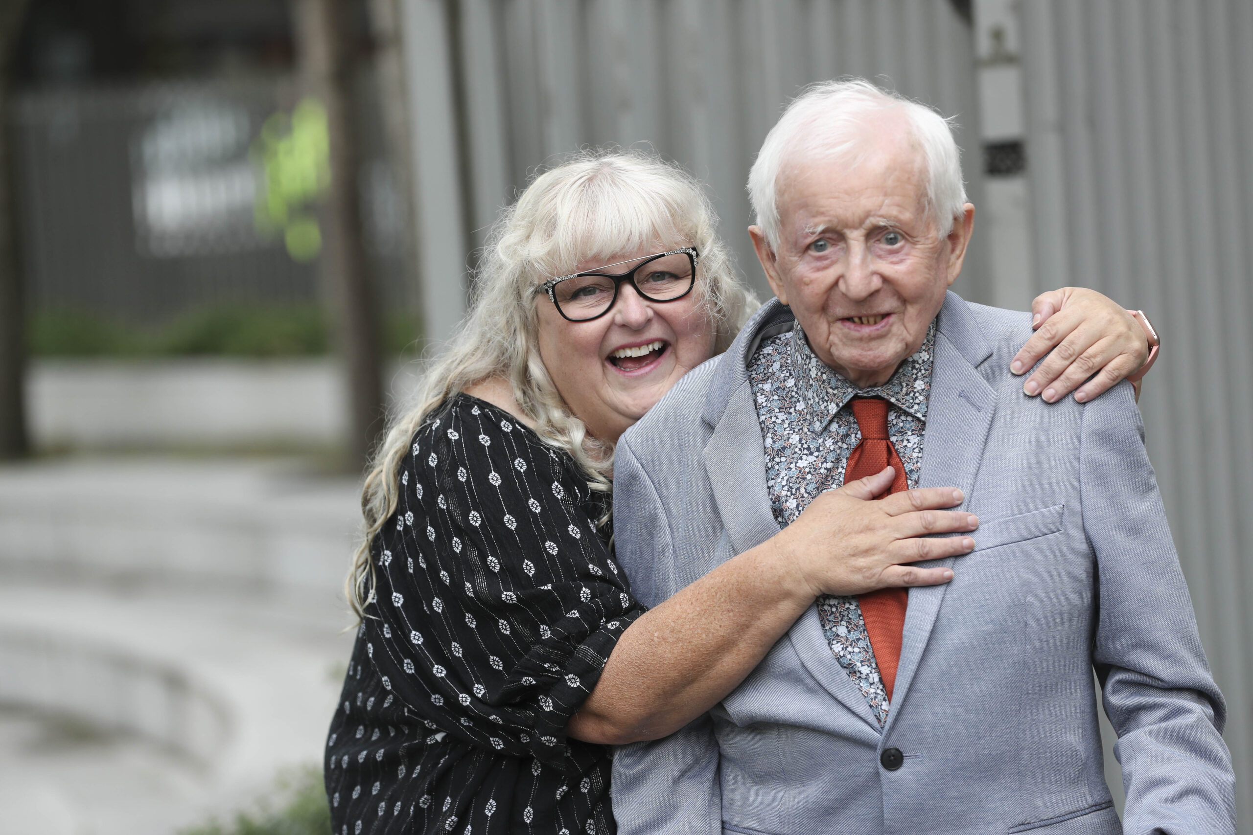
M 965 533 L 979 517 L 944 508 L 960 505 L 954 487 L 926 487 L 875 496 L 888 489 L 893 471 L 860 478 L 819 494 L 771 542 L 798 588 L 818 595 L 863 595 L 900 586 L 935 586 L 952 580 L 949 568 L 906 565 L 961 556 L 975 548 Z

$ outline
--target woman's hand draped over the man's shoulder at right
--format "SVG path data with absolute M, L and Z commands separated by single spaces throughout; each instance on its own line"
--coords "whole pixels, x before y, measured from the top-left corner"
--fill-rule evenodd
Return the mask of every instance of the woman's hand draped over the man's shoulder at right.
M 1022 384 L 1030 397 L 1041 394 L 1054 403 L 1074 391 L 1084 403 L 1134 374 L 1149 358 L 1140 323 L 1096 290 L 1063 287 L 1041 293 L 1031 312 L 1036 332 L 1010 362 L 1010 371 L 1022 374 L 1049 354 Z

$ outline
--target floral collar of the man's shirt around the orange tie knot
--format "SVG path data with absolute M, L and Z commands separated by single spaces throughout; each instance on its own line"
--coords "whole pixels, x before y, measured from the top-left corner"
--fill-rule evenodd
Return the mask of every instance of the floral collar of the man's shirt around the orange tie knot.
M 801 323 L 792 330 L 792 366 L 798 393 L 813 417 L 813 431 L 824 432 L 836 413 L 855 397 L 882 397 L 923 423 L 931 396 L 931 366 L 935 362 L 936 322 L 931 320 L 922 347 L 907 357 L 882 386 L 857 388 L 818 359 Z

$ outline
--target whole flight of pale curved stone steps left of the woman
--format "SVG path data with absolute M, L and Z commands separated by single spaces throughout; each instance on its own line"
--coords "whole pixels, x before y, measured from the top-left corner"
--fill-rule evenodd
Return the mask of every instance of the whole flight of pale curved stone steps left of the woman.
M 294 461 L 0 468 L 0 705 L 113 740 L 0 732 L 0 834 L 169 835 L 320 762 L 358 489 Z

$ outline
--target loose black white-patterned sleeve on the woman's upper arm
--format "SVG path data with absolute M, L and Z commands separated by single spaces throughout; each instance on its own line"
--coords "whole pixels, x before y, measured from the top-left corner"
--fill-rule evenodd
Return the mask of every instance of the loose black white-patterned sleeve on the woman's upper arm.
M 565 726 L 643 612 L 568 456 L 465 397 L 419 431 L 372 543 L 367 651 L 437 729 L 559 765 Z

